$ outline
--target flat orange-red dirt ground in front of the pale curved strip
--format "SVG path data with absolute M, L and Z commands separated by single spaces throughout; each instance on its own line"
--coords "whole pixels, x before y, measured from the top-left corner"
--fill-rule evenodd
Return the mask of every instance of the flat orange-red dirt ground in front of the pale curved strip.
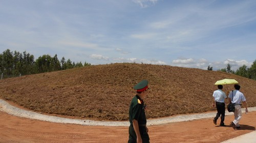
M 0 112 L 0 142 L 127 142 L 128 127 L 48 123 Z M 225 123 L 233 120 L 226 116 Z M 241 129 L 219 127 L 212 118 L 148 126 L 151 142 L 221 142 L 255 130 L 256 112 L 243 114 Z M 219 123 L 220 121 L 218 121 Z

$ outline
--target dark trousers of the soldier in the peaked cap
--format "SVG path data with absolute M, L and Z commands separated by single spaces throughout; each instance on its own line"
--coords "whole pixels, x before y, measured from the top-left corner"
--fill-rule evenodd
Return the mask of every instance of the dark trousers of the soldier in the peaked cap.
M 146 132 L 146 127 L 141 127 L 139 126 L 140 130 L 140 136 L 142 138 L 142 142 L 144 143 L 149 143 L 150 142 L 150 137 L 148 136 Z M 137 142 L 137 135 L 135 133 L 135 130 L 133 128 L 133 125 L 130 125 L 129 127 L 129 140 L 128 143 L 136 143 Z

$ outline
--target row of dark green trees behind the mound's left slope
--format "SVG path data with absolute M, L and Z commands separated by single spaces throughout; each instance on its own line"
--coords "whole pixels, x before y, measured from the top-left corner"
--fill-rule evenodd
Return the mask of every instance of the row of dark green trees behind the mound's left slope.
M 0 74 L 4 74 L 4 78 L 16 77 L 21 75 L 31 75 L 46 73 L 57 70 L 65 70 L 75 67 L 90 66 L 90 63 L 72 62 L 70 59 L 66 61 L 65 57 L 58 60 L 57 54 L 42 55 L 36 60 L 33 55 L 14 51 L 9 49 L 0 54 Z

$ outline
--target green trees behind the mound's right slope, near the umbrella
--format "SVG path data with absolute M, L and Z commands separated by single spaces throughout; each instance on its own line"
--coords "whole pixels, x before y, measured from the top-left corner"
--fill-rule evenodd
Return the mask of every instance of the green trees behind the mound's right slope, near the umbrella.
M 237 71 L 234 71 L 231 69 L 231 65 L 228 63 L 226 68 L 218 69 L 218 71 L 223 71 L 226 73 L 235 74 L 238 76 L 242 76 L 245 78 L 256 80 L 256 60 L 252 63 L 251 67 L 247 67 L 246 65 L 243 65 L 237 69 Z M 212 70 L 212 66 L 208 66 L 208 70 Z

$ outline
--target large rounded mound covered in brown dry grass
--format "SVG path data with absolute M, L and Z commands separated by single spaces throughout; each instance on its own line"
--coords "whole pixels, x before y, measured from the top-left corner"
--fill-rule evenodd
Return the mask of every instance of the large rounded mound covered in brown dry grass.
M 249 107 L 256 106 L 256 81 L 197 68 L 116 63 L 0 80 L 0 97 L 42 113 L 94 120 L 129 120 L 133 86 L 149 81 L 147 118 L 216 110 L 214 83 L 236 79 Z M 233 85 L 224 86 L 224 91 Z

